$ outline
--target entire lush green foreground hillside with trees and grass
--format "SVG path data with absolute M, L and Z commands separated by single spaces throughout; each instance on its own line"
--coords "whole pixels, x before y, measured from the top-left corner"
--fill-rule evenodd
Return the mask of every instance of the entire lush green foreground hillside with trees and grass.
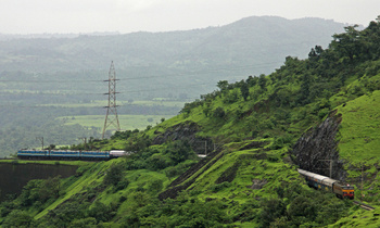
M 135 153 L 81 165 L 71 178 L 30 181 L 1 203 L 1 225 L 379 226 L 379 210 L 311 189 L 296 172 L 326 175 L 309 163 L 327 155 L 333 178 L 379 205 L 379 20 L 362 31 L 346 27 L 305 60 L 288 56 L 270 75 L 217 87 L 154 127 L 73 145 Z

